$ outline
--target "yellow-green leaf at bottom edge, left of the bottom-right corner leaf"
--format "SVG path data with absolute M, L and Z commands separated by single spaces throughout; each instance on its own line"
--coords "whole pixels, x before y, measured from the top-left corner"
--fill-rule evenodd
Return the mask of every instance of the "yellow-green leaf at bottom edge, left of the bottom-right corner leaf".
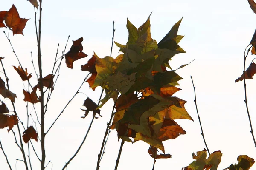
M 195 153 L 192 155 L 195 161 L 189 164 L 189 166 L 182 168 L 182 170 L 217 170 L 217 167 L 221 162 L 222 153 L 221 151 L 215 151 L 210 154 L 208 159 L 206 159 L 207 153 L 204 149 L 203 151 L 198 151 L 197 155 L 195 155 Z

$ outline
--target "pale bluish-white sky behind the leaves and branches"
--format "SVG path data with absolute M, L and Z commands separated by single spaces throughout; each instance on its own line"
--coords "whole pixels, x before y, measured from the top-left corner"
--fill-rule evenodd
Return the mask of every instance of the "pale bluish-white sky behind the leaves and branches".
M 30 18 L 23 30 L 24 36 L 13 36 L 10 31 L 9 37 L 23 67 L 28 68 L 35 76 L 30 57 L 32 51 L 33 59 L 35 61 L 37 59 L 34 8 L 26 0 L 1 0 L 0 4 L 0 11 L 8 11 L 12 4 L 15 4 L 20 17 Z M 256 14 L 250 9 L 247 0 L 43 0 L 41 49 L 44 76 L 51 73 L 58 43 L 60 43 L 58 52 L 60 56 L 69 35 L 67 50 L 72 45 L 71 40 L 83 37 L 83 52 L 88 55 L 74 62 L 72 70 L 63 62 L 46 114 L 46 129 L 76 93 L 87 75 L 87 72 L 80 70 L 80 66 L 90 59 L 93 51 L 101 58 L 110 55 L 113 20 L 116 29 L 114 40 L 125 44 L 128 40 L 127 18 L 139 27 L 152 11 L 151 36 L 157 42 L 183 17 L 178 34 L 185 35 L 179 45 L 186 53 L 173 57 L 169 62 L 171 67 L 179 68 L 180 65 L 195 59 L 191 64 L 177 71 L 183 77 L 179 81 L 179 88 L 182 91 L 175 93 L 175 96 L 187 101 L 185 108 L 194 122 L 186 119 L 177 120 L 177 123 L 186 130 L 186 134 L 163 142 L 166 153 L 170 153 L 172 158 L 157 159 L 155 170 L 180 170 L 193 161 L 192 153 L 205 148 L 193 101 L 194 91 L 190 76 L 193 77 L 196 86 L 198 111 L 209 150 L 211 153 L 216 150 L 221 150 L 223 153 L 218 169 L 237 163 L 236 159 L 239 155 L 246 154 L 256 159 L 256 149 L 244 104 L 244 85 L 243 82 L 235 83 L 235 79 L 240 77 L 243 71 L 244 48 L 250 43 L 256 27 Z M 24 97 L 22 88 L 27 88 L 27 85 L 23 84 L 12 67 L 12 65 L 17 66 L 18 62 L 3 31 L 8 33 L 6 28 L 0 28 L 0 56 L 5 57 L 3 62 L 9 76 L 11 91 L 17 94 L 15 105 L 18 114 L 26 122 L 26 103 L 22 101 Z M 112 56 L 119 55 L 118 51 L 119 48 L 113 45 Z M 246 68 L 253 58 L 254 56 L 249 54 Z M 0 77 L 4 77 L 2 70 Z M 31 83 L 36 84 L 37 79 L 32 78 Z M 256 80 L 247 80 L 247 100 L 252 124 L 256 128 L 255 85 Z M 87 132 L 92 115 L 89 114 L 85 119 L 81 119 L 80 117 L 84 116 L 81 108 L 87 96 L 97 103 L 101 89 L 96 88 L 96 91 L 92 91 L 85 83 L 79 92 L 81 93 L 73 99 L 47 134 L 46 161 L 52 162 L 47 170 L 61 169 L 73 156 Z M 4 99 L 4 102 L 12 111 L 9 99 Z M 113 100 L 103 106 L 101 110 L 103 117 L 93 122 L 86 142 L 76 158 L 68 165 L 67 170 L 96 169 L 97 154 L 100 151 L 112 106 Z M 39 108 L 39 104 L 36 108 Z M 31 105 L 29 111 L 32 111 Z M 29 125 L 34 125 L 32 120 L 29 121 Z M 14 130 L 17 131 L 17 127 L 14 127 Z M 22 159 L 22 155 L 14 142 L 13 134 L 8 133 L 6 128 L 0 129 L 0 139 L 13 169 L 24 170 L 23 162 L 16 161 Z M 120 142 L 116 130 L 111 130 L 100 164 L 101 170 L 114 169 Z M 36 141 L 32 143 L 40 153 L 39 143 Z M 134 144 L 125 142 L 118 169 L 151 170 L 153 159 L 147 152 L 148 147 L 149 145 L 142 141 Z M 1 170 L 8 170 L 2 153 L 0 153 L 0 165 Z M 33 152 L 32 165 L 39 166 Z M 252 169 L 255 168 L 254 166 Z

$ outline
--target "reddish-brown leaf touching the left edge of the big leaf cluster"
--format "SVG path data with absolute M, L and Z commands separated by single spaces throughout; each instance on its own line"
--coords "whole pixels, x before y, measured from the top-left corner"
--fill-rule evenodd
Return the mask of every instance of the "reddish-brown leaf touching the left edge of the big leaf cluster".
M 89 77 L 89 79 L 87 79 L 87 81 L 86 81 L 86 82 L 89 83 L 90 88 L 92 88 L 92 86 L 94 84 L 94 81 L 95 81 L 95 78 L 97 76 L 97 71 L 96 71 L 95 65 L 96 65 L 96 57 L 94 55 L 93 55 L 92 58 L 90 58 L 88 60 L 88 62 L 85 65 L 81 65 L 81 70 L 82 71 L 89 71 L 92 74 Z M 96 87 L 92 88 L 93 91 L 95 90 L 95 88 Z

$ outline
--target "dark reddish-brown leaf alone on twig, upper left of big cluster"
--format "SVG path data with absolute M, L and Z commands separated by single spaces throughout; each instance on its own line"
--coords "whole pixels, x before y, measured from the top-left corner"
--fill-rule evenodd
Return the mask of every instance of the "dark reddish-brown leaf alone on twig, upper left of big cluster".
M 68 68 L 73 68 L 73 62 L 87 57 L 87 54 L 85 54 L 83 51 L 82 41 L 83 37 L 77 39 L 76 41 L 73 41 L 73 45 L 70 48 L 70 51 L 68 51 L 65 54 L 66 64 Z

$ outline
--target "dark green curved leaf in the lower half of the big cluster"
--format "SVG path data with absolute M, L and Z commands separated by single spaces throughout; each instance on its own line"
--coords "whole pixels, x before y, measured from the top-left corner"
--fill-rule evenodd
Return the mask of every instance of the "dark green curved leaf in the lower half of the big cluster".
M 148 96 L 134 103 L 125 111 L 123 118 L 120 120 L 122 124 L 129 123 L 140 125 L 140 116 L 148 109 L 154 107 L 160 100 L 155 97 Z

